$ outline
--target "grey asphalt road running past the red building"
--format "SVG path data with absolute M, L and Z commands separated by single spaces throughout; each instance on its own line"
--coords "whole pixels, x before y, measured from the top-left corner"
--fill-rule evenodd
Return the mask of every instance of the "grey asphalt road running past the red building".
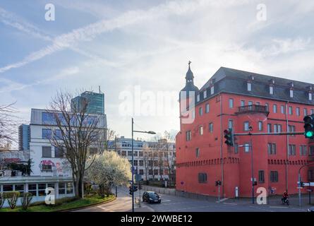
M 143 190 L 141 191 L 142 194 Z M 135 198 L 138 200 L 138 197 L 139 193 L 137 191 L 135 192 Z M 306 212 L 308 209 L 307 205 L 299 207 L 296 197 L 290 198 L 290 206 L 283 206 L 280 197 L 271 198 L 267 205 L 258 205 L 256 202 L 252 204 L 249 198 L 222 199 L 220 203 L 217 202 L 217 198 L 215 197 L 205 201 L 162 194 L 161 198 L 162 203 L 149 204 L 142 202 L 141 207 L 136 202 L 135 212 Z M 116 201 L 78 211 L 129 212 L 131 211 L 131 195 L 128 194 L 127 188 L 119 188 Z

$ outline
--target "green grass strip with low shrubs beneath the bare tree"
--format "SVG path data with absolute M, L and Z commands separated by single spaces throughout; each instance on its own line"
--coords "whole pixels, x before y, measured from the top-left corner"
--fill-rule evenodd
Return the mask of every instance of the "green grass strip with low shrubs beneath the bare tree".
M 80 208 L 84 206 L 90 206 L 97 203 L 102 203 L 104 201 L 109 201 L 114 198 L 114 195 L 102 198 L 98 195 L 88 196 L 85 195 L 84 198 L 61 198 L 56 200 L 56 205 L 46 206 L 42 203 L 33 203 L 28 210 L 23 210 L 20 206 L 11 210 L 11 208 L 1 208 L 0 212 L 55 212 L 61 210 L 69 210 L 72 208 Z M 35 204 L 35 205 L 34 205 Z

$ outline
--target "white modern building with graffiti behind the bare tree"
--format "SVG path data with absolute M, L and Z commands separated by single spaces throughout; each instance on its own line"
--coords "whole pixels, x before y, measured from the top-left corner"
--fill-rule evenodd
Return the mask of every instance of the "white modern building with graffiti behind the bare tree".
M 0 192 L 20 191 L 33 194 L 32 202 L 44 201 L 45 189 L 54 189 L 56 198 L 74 196 L 71 166 L 64 157 L 64 152 L 54 147 L 50 142 L 51 136 L 59 133 L 55 126 L 53 113 L 45 109 L 31 109 L 29 134 L 29 150 L 20 151 L 14 156 L 13 153 L 0 155 Z M 107 129 L 106 114 L 97 115 L 97 128 Z M 105 134 L 105 133 L 104 133 Z M 23 154 L 21 154 L 23 153 Z M 22 156 L 23 160 L 16 156 Z M 18 159 L 20 162 L 32 160 L 32 172 L 30 176 L 11 174 L 11 170 L 1 169 L 1 161 Z M 20 201 L 18 201 L 20 205 Z M 4 203 L 4 207 L 8 203 Z

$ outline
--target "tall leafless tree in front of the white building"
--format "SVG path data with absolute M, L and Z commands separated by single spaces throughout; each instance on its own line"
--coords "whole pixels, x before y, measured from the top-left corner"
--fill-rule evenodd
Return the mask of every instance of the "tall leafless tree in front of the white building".
M 71 165 L 76 196 L 83 196 L 83 179 L 95 160 L 97 143 L 106 137 L 105 116 L 87 113 L 87 101 L 71 102 L 73 95 L 59 91 L 50 102 L 49 117 L 52 117 L 50 142 L 58 148 Z M 87 164 L 88 160 L 88 164 Z

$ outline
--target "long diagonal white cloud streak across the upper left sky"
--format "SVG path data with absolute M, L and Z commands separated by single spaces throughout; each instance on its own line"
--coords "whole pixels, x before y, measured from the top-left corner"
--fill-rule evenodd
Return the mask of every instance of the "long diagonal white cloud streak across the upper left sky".
M 234 4 L 234 1 L 231 2 Z M 104 32 L 122 28 L 126 25 L 131 25 L 140 21 L 147 21 L 152 18 L 168 16 L 170 14 L 181 15 L 187 12 L 192 13 L 197 8 L 208 4 L 212 4 L 212 1 L 169 1 L 166 4 L 160 4 L 159 6 L 152 7 L 148 11 L 128 11 L 113 19 L 100 20 L 96 23 L 86 25 L 83 28 L 78 28 L 66 34 L 55 37 L 52 44 L 49 44 L 49 46 L 44 47 L 43 49 L 40 49 L 36 52 L 32 52 L 22 61 L 1 67 L 0 73 L 4 73 L 10 69 L 16 69 L 18 67 L 25 66 L 26 64 L 30 64 L 33 61 L 42 59 L 42 57 L 46 57 L 50 54 L 53 54 L 54 52 L 59 52 L 60 50 L 74 47 L 76 44 L 78 44 L 78 42 L 93 40 L 97 35 L 100 35 Z

